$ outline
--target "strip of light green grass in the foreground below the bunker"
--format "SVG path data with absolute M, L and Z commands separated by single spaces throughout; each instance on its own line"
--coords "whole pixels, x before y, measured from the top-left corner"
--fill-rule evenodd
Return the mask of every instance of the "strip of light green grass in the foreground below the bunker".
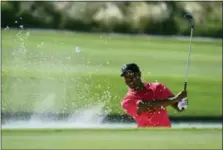
M 221 149 L 222 129 L 3 130 L 2 149 Z

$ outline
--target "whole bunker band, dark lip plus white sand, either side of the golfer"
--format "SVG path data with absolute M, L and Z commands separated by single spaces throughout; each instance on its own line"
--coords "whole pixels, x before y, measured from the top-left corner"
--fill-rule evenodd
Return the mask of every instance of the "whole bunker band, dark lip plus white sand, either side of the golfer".
M 50 129 L 50 128 L 135 128 L 132 118 L 127 115 L 109 115 L 101 113 L 101 106 L 84 110 L 85 115 L 75 114 L 23 114 L 2 115 L 4 129 Z M 172 128 L 222 128 L 219 117 L 170 117 Z

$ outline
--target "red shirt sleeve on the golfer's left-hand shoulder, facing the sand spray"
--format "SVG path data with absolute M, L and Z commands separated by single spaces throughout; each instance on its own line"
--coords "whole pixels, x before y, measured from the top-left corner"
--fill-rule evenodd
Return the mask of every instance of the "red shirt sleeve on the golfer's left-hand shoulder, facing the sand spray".
M 136 116 L 137 113 L 137 103 L 138 103 L 139 100 L 137 100 L 135 97 L 133 96 L 126 96 L 121 105 L 122 105 L 122 108 L 124 109 L 124 111 L 130 115 L 130 116 Z

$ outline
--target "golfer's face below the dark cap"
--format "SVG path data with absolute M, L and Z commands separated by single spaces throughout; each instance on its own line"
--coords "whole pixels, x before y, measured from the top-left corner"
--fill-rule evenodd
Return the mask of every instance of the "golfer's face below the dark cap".
M 138 85 L 139 75 L 133 72 L 126 72 L 124 74 L 126 85 L 130 88 L 135 88 Z

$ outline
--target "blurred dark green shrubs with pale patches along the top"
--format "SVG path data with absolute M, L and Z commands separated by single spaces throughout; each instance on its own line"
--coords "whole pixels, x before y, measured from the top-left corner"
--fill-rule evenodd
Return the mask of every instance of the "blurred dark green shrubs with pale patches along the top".
M 222 37 L 221 2 L 1 3 L 2 28 L 22 24 L 26 28 L 83 32 L 187 35 L 188 26 L 182 16 L 190 13 L 195 18 L 195 36 Z

